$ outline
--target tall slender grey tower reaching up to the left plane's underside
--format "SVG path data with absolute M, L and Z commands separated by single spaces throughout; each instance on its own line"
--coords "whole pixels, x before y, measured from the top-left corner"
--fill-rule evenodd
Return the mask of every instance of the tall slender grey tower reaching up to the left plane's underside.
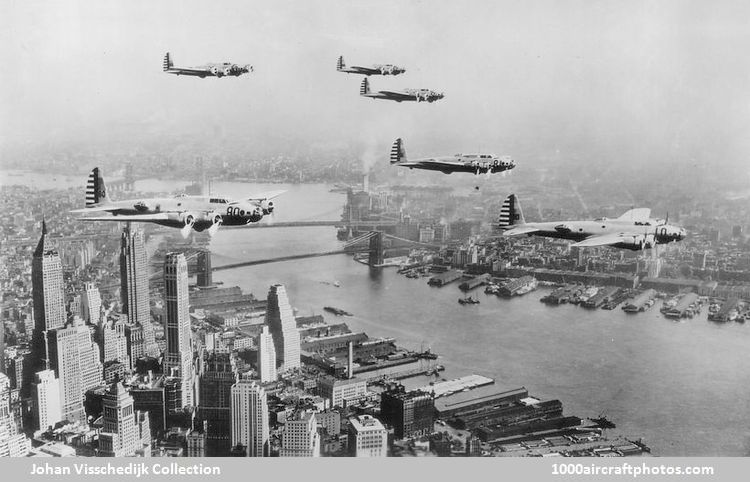
M 127 227 L 120 239 L 120 296 L 122 312 L 128 315 L 131 325 L 143 327 L 144 352 L 158 356 L 159 348 L 151 325 L 148 295 L 148 253 L 143 232 Z M 135 363 L 135 359 L 133 360 Z

